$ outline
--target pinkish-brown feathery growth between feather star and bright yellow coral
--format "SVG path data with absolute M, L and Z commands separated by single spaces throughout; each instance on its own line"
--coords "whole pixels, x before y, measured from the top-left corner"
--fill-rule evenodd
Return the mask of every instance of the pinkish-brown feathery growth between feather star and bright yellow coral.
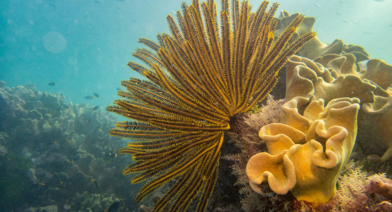
M 234 162 L 231 166 L 232 173 L 237 176 L 235 185 L 240 187 L 239 192 L 243 196 L 241 208 L 244 211 L 284 210 L 283 204 L 279 204 L 279 201 L 284 202 L 281 195 L 273 193 L 266 184 L 263 185 L 263 190 L 269 191 L 266 195 L 254 192 L 249 186 L 249 179 L 245 172 L 246 164 L 251 156 L 261 151 L 267 151 L 265 144 L 260 142 L 258 137 L 259 130 L 269 123 L 279 121 L 283 104 L 283 100 L 273 100 L 272 96 L 268 96 L 266 105 L 261 105 L 260 108 L 255 107 L 251 113 L 247 114 L 239 134 L 229 134 L 231 138 L 229 142 L 237 146 L 240 152 L 226 154 L 223 158 Z

